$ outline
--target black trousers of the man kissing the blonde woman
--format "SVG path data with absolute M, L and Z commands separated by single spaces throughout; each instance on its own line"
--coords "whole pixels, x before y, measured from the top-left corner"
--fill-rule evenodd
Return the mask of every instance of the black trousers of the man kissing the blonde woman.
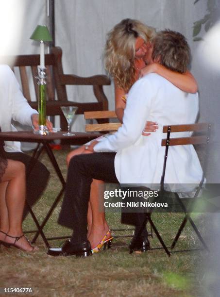
M 74 156 L 69 163 L 66 192 L 58 223 L 73 229 L 73 243 L 87 240 L 87 211 L 92 179 L 119 183 L 115 174 L 115 155 L 115 152 L 82 154 Z

